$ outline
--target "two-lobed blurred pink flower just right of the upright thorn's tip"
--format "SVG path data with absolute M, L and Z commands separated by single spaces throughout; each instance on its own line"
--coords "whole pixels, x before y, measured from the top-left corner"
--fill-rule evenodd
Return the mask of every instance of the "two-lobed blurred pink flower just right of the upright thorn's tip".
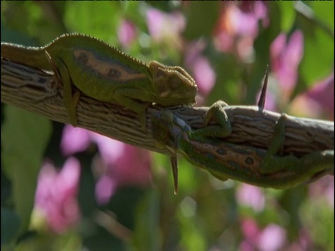
M 295 31 L 286 41 L 286 34 L 281 33 L 271 43 L 270 57 L 273 71 L 284 96 L 290 96 L 298 78 L 298 66 L 304 54 L 304 35 Z

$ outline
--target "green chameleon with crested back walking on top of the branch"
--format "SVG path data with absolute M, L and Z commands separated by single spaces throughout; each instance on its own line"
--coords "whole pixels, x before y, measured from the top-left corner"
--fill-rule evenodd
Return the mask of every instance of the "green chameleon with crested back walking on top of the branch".
M 1 57 L 43 70 L 54 70 L 64 86 L 64 107 L 70 123 L 77 126 L 80 91 L 103 102 L 117 102 L 140 116 L 146 127 L 145 109 L 193 105 L 197 94 L 194 79 L 179 66 L 157 61 L 143 63 L 91 36 L 64 34 L 44 47 L 1 43 Z M 73 95 L 73 85 L 80 91 Z

